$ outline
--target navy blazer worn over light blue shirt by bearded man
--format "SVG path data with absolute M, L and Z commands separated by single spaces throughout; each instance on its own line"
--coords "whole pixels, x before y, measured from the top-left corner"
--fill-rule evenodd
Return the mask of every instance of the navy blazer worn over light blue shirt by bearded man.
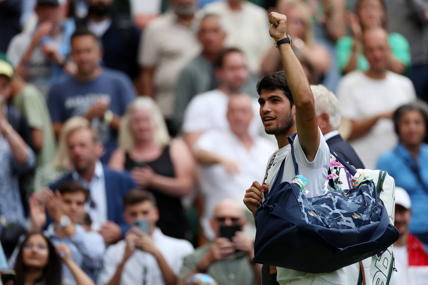
M 126 173 L 110 170 L 105 165 L 103 165 L 103 170 L 107 197 L 107 219 L 120 226 L 123 237 L 129 229 L 128 224 L 123 220 L 123 197 L 136 185 L 131 176 Z M 62 182 L 67 180 L 73 180 L 71 173 L 60 178 L 49 188 L 55 190 Z

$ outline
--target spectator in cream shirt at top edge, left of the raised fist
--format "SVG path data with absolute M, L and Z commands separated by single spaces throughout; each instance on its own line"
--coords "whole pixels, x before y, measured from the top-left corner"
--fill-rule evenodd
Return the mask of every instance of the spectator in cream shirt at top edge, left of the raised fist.
M 272 41 L 266 33 L 266 10 L 247 0 L 216 1 L 204 10 L 220 16 L 227 33 L 226 47 L 242 47 L 248 68 L 259 74 L 262 56 Z

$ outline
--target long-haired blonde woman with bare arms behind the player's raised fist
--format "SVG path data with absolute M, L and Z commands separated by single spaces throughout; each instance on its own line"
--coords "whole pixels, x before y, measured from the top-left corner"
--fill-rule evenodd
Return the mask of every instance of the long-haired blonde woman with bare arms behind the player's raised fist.
M 308 5 L 300 0 L 278 0 L 276 12 L 287 16 L 291 47 L 305 68 L 309 82 L 318 84 L 330 68 L 330 53 L 326 47 L 315 42 Z M 262 60 L 261 70 L 264 74 L 282 71 L 281 58 L 273 43 Z

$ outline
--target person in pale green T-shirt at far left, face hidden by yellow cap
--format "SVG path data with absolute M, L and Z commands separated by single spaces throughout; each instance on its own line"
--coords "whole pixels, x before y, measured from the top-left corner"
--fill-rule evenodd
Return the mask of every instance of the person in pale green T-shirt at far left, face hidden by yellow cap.
M 48 106 L 42 93 L 20 76 L 12 82 L 13 106 L 24 115 L 31 127 L 36 167 L 51 162 L 55 156 L 56 144 Z

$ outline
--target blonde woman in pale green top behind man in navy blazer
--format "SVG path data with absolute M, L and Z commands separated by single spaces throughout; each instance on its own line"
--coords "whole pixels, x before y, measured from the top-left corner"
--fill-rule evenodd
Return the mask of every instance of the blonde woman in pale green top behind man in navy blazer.
M 72 165 L 68 156 L 67 137 L 72 131 L 82 127 L 89 127 L 89 121 L 83 117 L 72 117 L 64 123 L 59 133 L 58 149 L 53 161 L 36 171 L 34 179 L 35 191 L 40 191 L 42 187 L 51 185 L 71 171 Z

